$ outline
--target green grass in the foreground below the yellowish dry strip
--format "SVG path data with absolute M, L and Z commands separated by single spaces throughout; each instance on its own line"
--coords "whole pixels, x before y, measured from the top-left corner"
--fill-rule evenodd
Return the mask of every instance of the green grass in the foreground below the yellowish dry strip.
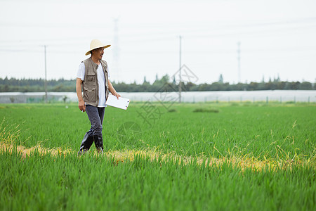
M 137 157 L 114 165 L 110 158 L 34 153 L 24 160 L 1 153 L 0 208 L 6 210 L 313 210 L 315 171 L 242 172 L 175 165 Z

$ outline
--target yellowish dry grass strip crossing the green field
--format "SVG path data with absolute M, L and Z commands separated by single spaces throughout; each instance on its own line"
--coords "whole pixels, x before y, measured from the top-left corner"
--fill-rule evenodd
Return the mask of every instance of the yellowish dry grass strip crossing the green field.
M 77 153 L 72 151 L 71 149 L 62 150 L 61 148 L 44 148 L 41 145 L 34 146 L 32 148 L 26 148 L 25 146 L 13 146 L 8 145 L 5 143 L 0 143 L 0 153 L 13 153 L 18 152 L 21 155 L 22 159 L 27 158 L 28 156 L 32 156 L 34 153 L 39 153 L 40 155 L 51 155 L 53 157 L 60 156 L 60 155 L 67 155 L 72 153 Z M 91 151 L 86 153 L 83 156 L 94 156 L 97 155 L 96 151 Z M 176 155 L 176 153 L 161 153 L 159 151 L 152 151 L 150 149 L 148 150 L 123 150 L 123 151 L 107 151 L 104 154 L 107 158 L 113 158 L 114 162 L 126 162 L 126 160 L 133 161 L 136 156 L 139 157 L 145 157 L 149 158 L 150 160 L 162 160 L 162 162 L 166 161 L 173 161 L 178 163 L 183 163 L 184 165 L 189 164 L 190 162 L 197 162 L 197 164 L 202 165 L 223 165 L 224 163 L 230 163 L 234 167 L 240 167 L 242 170 L 245 168 L 252 168 L 256 170 L 263 170 L 264 167 L 269 167 L 269 169 L 275 169 L 275 168 L 287 168 L 291 167 L 291 165 L 294 165 L 294 161 L 280 161 L 277 162 L 275 160 L 257 160 L 256 158 L 202 158 L 202 157 L 191 157 L 191 156 L 182 156 L 182 155 Z M 298 162 L 296 162 L 297 164 Z M 313 162 L 312 162 L 313 163 Z M 304 162 L 299 163 L 300 165 L 303 165 Z M 310 164 L 308 162 L 308 164 Z M 314 167 L 314 165 L 310 165 L 311 167 Z

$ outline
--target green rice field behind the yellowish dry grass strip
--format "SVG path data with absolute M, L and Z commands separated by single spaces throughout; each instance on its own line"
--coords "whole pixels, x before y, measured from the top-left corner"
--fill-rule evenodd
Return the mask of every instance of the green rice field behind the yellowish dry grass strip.
M 155 120 L 145 113 L 144 103 L 131 104 L 127 111 L 106 108 L 105 150 L 157 148 L 178 155 L 254 155 L 260 159 L 285 154 L 310 158 L 315 153 L 314 105 L 201 103 L 169 109 L 152 105 L 159 109 Z M 76 104 L 2 106 L 0 117 L 7 130 L 18 125 L 19 140 L 27 147 L 40 141 L 46 148 L 76 151 L 90 127 L 86 113 Z

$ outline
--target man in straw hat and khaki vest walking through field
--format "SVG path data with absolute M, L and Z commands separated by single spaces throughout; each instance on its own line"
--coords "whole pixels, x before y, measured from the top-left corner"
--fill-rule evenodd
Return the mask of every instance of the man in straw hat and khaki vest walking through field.
M 100 40 L 93 39 L 90 50 L 86 52 L 86 56 L 91 54 L 91 57 L 79 65 L 76 82 L 78 107 L 82 112 L 86 111 L 91 122 L 91 128 L 84 135 L 78 155 L 86 153 L 93 141 L 98 153 L 103 153 L 102 124 L 105 101 L 109 91 L 117 98 L 120 97 L 109 80 L 107 62 L 102 60 L 104 49 L 108 47 L 110 45 L 105 45 Z M 81 88 L 84 91 L 84 96 L 81 94 Z

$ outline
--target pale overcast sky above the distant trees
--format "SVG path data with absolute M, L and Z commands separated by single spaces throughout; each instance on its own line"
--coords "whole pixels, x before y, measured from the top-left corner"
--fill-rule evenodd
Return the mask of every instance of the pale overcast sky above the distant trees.
M 182 64 L 197 84 L 315 82 L 315 0 L 0 0 L 0 77 L 74 79 L 91 39 L 111 80 L 154 82 Z

